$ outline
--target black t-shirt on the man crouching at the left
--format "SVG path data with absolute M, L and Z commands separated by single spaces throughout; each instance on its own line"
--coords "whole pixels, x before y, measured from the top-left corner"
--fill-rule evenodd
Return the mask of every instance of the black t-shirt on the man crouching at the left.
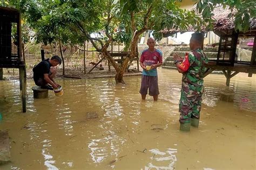
M 50 74 L 51 63 L 50 59 L 43 60 L 33 67 L 33 79 L 44 79 L 44 74 Z

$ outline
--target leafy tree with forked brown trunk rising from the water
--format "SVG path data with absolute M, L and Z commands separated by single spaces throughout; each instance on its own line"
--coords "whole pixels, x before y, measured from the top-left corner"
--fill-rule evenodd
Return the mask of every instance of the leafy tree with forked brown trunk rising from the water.
M 154 36 L 160 38 L 161 29 L 199 26 L 194 20 L 200 19 L 194 12 L 179 9 L 176 1 L 171 0 L 22 1 L 21 6 L 38 41 L 90 41 L 112 63 L 116 82 L 122 83 L 130 59 L 138 56 L 140 35 L 153 30 Z M 99 31 L 105 33 L 102 38 L 91 37 L 91 33 Z M 107 50 L 113 41 L 124 42 L 130 52 L 120 67 Z

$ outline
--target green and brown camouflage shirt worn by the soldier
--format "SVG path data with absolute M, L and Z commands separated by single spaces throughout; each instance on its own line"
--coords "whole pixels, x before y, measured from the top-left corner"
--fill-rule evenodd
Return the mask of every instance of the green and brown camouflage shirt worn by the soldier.
M 196 49 L 188 54 L 190 67 L 183 74 L 182 88 L 188 95 L 203 93 L 203 74 L 206 71 L 204 66 L 208 59 L 202 49 Z

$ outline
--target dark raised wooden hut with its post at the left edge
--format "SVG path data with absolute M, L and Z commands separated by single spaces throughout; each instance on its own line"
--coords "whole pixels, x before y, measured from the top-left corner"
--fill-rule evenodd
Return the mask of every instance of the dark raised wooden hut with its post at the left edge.
M 25 62 L 21 55 L 21 15 L 13 8 L 0 7 L 0 68 L 18 68 L 22 110 L 26 112 Z

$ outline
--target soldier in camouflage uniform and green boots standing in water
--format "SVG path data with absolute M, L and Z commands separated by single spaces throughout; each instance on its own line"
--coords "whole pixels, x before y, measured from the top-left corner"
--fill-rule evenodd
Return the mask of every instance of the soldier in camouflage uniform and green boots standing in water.
M 190 39 L 191 52 L 184 59 L 174 54 L 174 63 L 179 73 L 183 74 L 179 102 L 180 130 L 190 131 L 190 125 L 198 127 L 202 95 L 204 92 L 203 74 L 208 62 L 203 52 L 204 34 L 193 33 Z

